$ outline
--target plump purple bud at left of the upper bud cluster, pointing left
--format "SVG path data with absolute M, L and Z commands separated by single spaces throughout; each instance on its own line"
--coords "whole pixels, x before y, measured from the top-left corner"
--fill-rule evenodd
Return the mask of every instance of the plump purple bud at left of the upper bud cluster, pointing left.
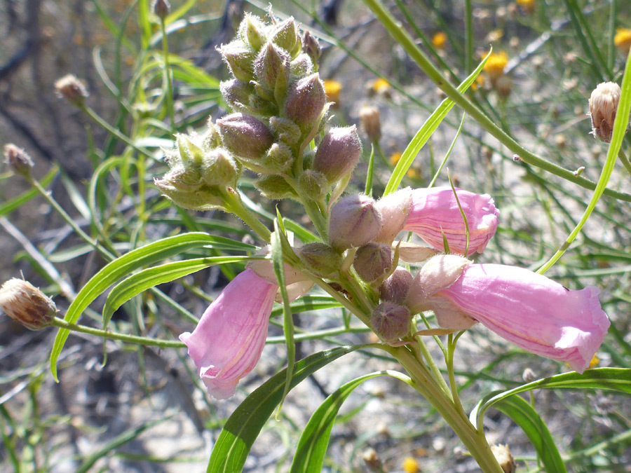
M 237 158 L 261 160 L 274 137 L 265 124 L 246 114 L 230 114 L 217 120 L 222 142 Z

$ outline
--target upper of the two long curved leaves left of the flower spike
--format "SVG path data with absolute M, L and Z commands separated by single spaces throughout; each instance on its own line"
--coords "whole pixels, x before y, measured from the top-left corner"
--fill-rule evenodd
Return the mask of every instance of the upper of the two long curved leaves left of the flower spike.
M 86 310 L 90 303 L 100 296 L 105 289 L 133 270 L 175 256 L 189 249 L 205 245 L 212 246 L 215 242 L 221 240 L 229 239 L 215 237 L 208 235 L 208 233 L 184 233 L 182 235 L 163 238 L 124 254 L 120 258 L 111 261 L 107 266 L 104 266 L 104 268 L 96 273 L 86 285 L 83 286 L 79 294 L 76 295 L 76 299 L 70 304 L 64 320 L 72 324 L 76 323 L 83 313 L 83 310 Z M 69 334 L 69 330 L 60 329 L 55 337 L 53 350 L 50 352 L 50 371 L 53 373 L 55 381 L 57 381 L 57 358 Z

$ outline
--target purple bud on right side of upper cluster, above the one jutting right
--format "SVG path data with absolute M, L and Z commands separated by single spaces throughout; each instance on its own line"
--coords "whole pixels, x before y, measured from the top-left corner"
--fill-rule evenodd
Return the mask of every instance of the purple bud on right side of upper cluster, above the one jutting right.
M 287 93 L 285 113 L 301 130 L 311 130 L 325 111 L 327 95 L 318 74 L 311 74 L 292 85 Z

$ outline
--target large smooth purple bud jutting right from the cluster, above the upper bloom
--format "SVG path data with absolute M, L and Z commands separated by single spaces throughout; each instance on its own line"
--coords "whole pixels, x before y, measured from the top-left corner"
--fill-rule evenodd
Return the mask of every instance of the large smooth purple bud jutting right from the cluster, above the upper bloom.
M 315 151 L 313 169 L 325 174 L 330 183 L 352 172 L 362 155 L 362 142 L 355 125 L 331 128 Z

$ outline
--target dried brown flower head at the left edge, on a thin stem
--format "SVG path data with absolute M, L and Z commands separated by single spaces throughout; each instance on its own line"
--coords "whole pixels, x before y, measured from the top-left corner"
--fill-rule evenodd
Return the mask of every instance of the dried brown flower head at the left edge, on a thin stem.
M 29 330 L 49 327 L 57 314 L 57 306 L 30 282 L 13 279 L 0 287 L 0 309 Z

